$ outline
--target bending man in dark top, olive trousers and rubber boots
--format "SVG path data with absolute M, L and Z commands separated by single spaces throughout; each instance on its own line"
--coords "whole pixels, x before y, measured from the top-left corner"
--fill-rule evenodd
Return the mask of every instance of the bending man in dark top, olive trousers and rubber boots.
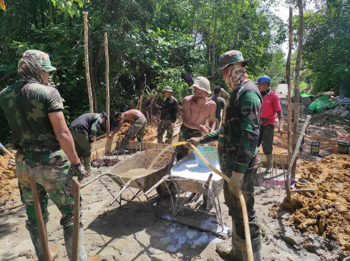
M 84 158 L 85 170 L 97 170 L 90 166 L 91 143 L 96 136 L 97 130 L 101 124 L 108 119 L 107 113 L 85 113 L 73 120 L 69 125 L 69 131 L 72 134 L 75 144 L 75 150 L 78 157 Z

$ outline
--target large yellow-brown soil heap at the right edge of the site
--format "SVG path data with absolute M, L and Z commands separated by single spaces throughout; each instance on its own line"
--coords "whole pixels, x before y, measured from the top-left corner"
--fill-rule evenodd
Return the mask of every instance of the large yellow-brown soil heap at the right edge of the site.
M 297 229 L 336 240 L 350 255 L 350 156 L 334 154 L 316 163 L 304 161 L 299 171 L 305 179 L 311 174 L 313 183 L 305 188 L 316 192 L 292 194 L 292 202 L 285 199 L 280 209 L 295 210 L 291 221 Z

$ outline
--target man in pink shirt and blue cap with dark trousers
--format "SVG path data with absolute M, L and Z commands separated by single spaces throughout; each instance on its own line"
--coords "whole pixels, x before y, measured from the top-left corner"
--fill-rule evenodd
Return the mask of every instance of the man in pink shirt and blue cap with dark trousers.
M 272 142 L 273 132 L 275 129 L 276 115 L 280 121 L 278 133 L 283 133 L 283 115 L 280 104 L 280 98 L 276 92 L 270 89 L 271 78 L 267 75 L 260 76 L 255 84 L 258 84 L 260 94 L 262 96 L 262 112 L 261 112 L 261 126 L 258 140 L 258 147 L 262 142 L 262 152 L 267 157 L 268 166 L 265 173 L 272 172 Z

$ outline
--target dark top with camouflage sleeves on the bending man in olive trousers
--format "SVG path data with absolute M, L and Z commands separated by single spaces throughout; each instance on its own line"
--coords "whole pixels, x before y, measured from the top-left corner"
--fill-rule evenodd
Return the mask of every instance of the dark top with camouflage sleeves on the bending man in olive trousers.
M 69 129 L 89 135 L 90 143 L 92 143 L 101 124 L 102 118 L 99 113 L 85 113 L 73 120 L 69 125 Z

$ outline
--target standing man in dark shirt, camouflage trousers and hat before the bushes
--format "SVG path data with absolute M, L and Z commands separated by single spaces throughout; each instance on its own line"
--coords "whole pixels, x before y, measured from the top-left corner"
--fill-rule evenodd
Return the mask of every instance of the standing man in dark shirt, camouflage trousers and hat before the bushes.
M 162 113 L 160 115 L 160 122 L 157 130 L 157 141 L 163 143 L 163 134 L 167 131 L 168 144 L 173 142 L 173 133 L 177 114 L 177 100 L 172 95 L 172 88 L 166 86 L 164 91 L 164 102 L 162 107 Z

